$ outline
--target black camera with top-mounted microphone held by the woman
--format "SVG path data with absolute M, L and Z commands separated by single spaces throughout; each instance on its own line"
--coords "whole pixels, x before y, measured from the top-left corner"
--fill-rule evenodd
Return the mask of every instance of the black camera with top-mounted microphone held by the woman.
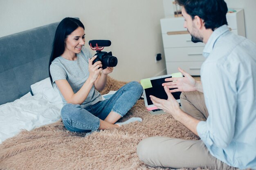
M 112 56 L 112 52 L 101 51 L 105 46 L 110 46 L 110 40 L 90 40 L 89 45 L 92 50 L 96 50 L 97 57 L 93 60 L 92 64 L 97 61 L 101 61 L 102 69 L 107 67 L 115 67 L 117 66 L 117 57 Z

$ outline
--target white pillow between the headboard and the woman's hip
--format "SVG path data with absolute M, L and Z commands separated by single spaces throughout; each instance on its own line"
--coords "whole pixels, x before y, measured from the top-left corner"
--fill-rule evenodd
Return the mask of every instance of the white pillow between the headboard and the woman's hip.
M 58 89 L 52 87 L 50 77 L 47 77 L 46 79 L 43 79 L 40 82 L 36 82 L 35 84 L 32 84 L 30 87 L 33 95 L 41 94 L 44 95 L 46 99 L 51 103 L 63 104 Z

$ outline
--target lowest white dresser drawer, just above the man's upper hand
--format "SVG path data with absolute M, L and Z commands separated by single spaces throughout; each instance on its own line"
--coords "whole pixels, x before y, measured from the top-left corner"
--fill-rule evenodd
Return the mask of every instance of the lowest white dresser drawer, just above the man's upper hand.
M 200 75 L 200 68 L 203 62 L 166 62 L 167 74 L 177 73 L 178 67 L 190 75 Z

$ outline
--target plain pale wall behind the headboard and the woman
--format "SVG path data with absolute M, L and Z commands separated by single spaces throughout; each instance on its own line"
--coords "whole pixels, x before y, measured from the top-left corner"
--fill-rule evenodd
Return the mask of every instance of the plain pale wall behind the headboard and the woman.
M 166 73 L 159 21 L 164 8 L 159 0 L 0 0 L 0 37 L 67 16 L 80 18 L 87 42 L 111 40 L 104 49 L 118 58 L 111 77 L 139 81 Z M 157 53 L 163 60 L 155 63 Z

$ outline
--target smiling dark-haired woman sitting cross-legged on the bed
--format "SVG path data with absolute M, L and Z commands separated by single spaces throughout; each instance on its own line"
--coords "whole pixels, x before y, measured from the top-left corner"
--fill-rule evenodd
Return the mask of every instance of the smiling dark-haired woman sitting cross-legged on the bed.
M 64 18 L 56 29 L 49 61 L 49 77 L 65 104 L 61 109 L 63 124 L 73 132 L 118 128 L 122 123 L 115 124 L 116 121 L 134 106 L 143 88 L 138 82 L 130 82 L 102 101 L 98 91 L 105 87 L 113 68 L 103 70 L 101 61 L 92 64 L 97 56 L 92 57 L 84 44 L 81 21 Z M 125 123 L 141 120 L 132 118 Z

